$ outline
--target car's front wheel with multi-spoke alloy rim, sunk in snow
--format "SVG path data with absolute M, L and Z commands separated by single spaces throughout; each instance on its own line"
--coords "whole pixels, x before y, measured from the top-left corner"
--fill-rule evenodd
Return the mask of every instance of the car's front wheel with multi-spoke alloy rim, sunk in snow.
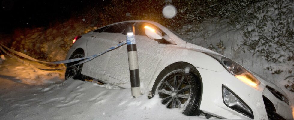
M 184 115 L 200 114 L 201 83 L 193 73 L 178 69 L 168 73 L 158 85 L 157 93 L 167 108 L 184 108 Z

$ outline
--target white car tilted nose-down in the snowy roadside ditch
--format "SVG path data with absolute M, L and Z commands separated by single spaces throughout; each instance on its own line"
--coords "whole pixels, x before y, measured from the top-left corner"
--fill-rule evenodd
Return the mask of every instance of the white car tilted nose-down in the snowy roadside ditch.
M 118 22 L 77 36 L 66 59 L 98 54 L 124 42 L 130 24 L 135 27 L 142 93 L 149 93 L 149 98 L 160 97 L 167 108 L 180 108 L 190 116 L 293 119 L 291 103 L 282 89 L 156 22 Z M 84 76 L 131 88 L 127 45 L 66 70 L 66 79 Z

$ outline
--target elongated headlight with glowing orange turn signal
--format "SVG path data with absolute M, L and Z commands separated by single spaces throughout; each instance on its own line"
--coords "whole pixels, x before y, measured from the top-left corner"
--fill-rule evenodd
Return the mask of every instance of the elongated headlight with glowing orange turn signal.
M 260 84 L 260 81 L 256 79 L 251 73 L 249 73 L 244 67 L 235 63 L 229 58 L 222 57 L 221 63 L 226 68 L 226 70 L 248 85 L 255 87 Z

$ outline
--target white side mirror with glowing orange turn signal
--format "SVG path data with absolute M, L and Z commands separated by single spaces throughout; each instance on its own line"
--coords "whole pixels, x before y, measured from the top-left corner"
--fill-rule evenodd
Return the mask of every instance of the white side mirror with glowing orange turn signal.
M 145 26 L 145 34 L 151 39 L 162 39 L 161 31 L 151 26 Z

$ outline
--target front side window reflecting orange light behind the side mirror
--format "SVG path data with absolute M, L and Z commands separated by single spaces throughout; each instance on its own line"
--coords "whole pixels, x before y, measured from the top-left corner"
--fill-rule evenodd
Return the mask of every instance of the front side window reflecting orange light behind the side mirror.
M 143 22 L 136 22 L 134 26 L 135 26 L 135 35 L 143 35 L 147 37 L 147 35 L 145 34 L 144 27 L 153 26 L 153 25 L 150 25 L 148 23 L 143 23 Z M 161 33 L 162 33 L 162 36 L 167 36 L 164 32 L 161 32 Z M 164 37 L 162 39 L 153 39 L 153 40 L 157 41 L 159 44 L 171 44 L 169 41 L 165 40 Z

